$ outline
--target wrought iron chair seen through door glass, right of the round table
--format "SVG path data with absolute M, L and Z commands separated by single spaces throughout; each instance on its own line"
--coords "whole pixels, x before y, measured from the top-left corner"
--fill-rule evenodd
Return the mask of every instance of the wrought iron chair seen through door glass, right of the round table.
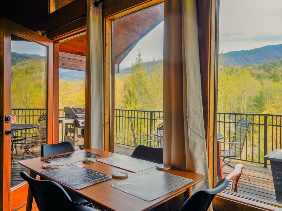
M 24 154 L 21 159 L 24 158 L 25 153 L 32 157 L 34 154 L 34 146 L 41 146 L 46 143 L 46 120 L 47 114 L 43 113 L 38 120 L 35 133 L 30 133 L 30 137 L 26 138 L 26 143 L 21 145 L 21 149 L 24 149 Z

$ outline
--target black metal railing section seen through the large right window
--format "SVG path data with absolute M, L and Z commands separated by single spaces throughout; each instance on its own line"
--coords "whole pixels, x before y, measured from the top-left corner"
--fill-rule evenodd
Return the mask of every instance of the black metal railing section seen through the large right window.
M 267 166 L 267 160 L 264 160 L 263 156 L 272 152 L 274 149 L 281 148 L 282 115 L 218 113 L 218 133 L 223 134 L 225 137 L 231 137 L 234 134 L 237 121 L 242 118 L 246 118 L 250 122 L 250 125 L 242 154 L 236 159 Z

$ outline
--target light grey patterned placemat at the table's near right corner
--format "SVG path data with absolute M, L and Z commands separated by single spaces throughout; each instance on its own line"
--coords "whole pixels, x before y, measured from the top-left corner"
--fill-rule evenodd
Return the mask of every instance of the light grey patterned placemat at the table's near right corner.
M 164 171 L 151 171 L 141 176 L 112 184 L 112 187 L 145 201 L 152 201 L 191 182 L 193 182 L 192 179 Z

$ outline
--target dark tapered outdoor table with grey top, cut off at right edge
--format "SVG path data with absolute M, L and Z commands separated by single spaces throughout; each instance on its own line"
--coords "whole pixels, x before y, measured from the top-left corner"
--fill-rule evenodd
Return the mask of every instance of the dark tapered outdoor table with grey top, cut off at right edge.
M 276 201 L 282 204 L 282 149 L 272 151 L 264 159 L 270 160 Z

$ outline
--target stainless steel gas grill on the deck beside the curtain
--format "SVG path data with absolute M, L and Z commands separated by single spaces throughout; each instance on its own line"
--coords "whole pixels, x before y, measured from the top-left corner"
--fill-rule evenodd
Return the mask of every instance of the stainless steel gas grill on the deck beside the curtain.
M 75 148 L 84 148 L 84 115 L 85 110 L 81 107 L 65 107 L 65 117 L 59 122 L 65 124 L 64 141 L 68 141 Z M 80 130 L 80 133 L 79 133 Z

